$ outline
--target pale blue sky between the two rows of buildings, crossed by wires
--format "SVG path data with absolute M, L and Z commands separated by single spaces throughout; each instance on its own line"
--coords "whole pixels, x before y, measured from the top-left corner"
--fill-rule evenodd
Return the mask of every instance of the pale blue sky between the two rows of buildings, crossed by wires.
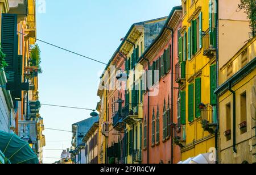
M 45 0 L 46 13 L 37 11 L 37 37 L 49 43 L 108 62 L 131 24 L 168 16 L 180 0 Z M 39 6 L 38 6 L 39 7 Z M 39 76 L 40 102 L 95 109 L 100 74 L 105 65 L 40 43 L 43 74 Z M 71 124 L 90 111 L 42 106 L 47 128 L 71 130 Z M 69 132 L 44 131 L 44 163 L 53 163 L 61 150 L 71 147 Z

